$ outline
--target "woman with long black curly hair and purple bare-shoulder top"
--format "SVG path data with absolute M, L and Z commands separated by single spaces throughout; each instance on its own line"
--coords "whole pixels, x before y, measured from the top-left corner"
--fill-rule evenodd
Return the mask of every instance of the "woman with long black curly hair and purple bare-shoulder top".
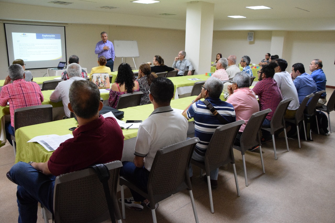
M 120 64 L 118 76 L 116 76 L 115 83 L 112 84 L 109 92 L 109 106 L 116 108 L 120 95 L 136 91 L 140 91 L 140 87 L 138 82 L 134 80 L 134 73 L 130 65 L 126 63 Z

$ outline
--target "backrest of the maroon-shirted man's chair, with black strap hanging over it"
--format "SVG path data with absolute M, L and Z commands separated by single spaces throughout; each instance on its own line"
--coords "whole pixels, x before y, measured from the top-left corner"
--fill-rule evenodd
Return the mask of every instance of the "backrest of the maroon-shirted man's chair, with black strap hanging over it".
M 108 184 L 113 197 L 116 195 L 119 169 L 122 163 L 117 160 L 105 165 L 110 170 Z M 55 222 L 89 222 L 106 211 L 108 211 L 108 206 L 103 184 L 93 168 L 56 177 L 54 189 Z M 121 215 L 119 217 L 121 219 Z

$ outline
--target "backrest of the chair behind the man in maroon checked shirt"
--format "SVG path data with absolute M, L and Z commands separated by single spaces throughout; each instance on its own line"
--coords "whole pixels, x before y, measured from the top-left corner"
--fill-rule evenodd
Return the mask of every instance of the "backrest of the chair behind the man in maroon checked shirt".
M 293 100 L 292 97 L 279 102 L 270 122 L 271 134 L 273 135 L 278 129 L 285 127 L 284 114 L 289 103 Z

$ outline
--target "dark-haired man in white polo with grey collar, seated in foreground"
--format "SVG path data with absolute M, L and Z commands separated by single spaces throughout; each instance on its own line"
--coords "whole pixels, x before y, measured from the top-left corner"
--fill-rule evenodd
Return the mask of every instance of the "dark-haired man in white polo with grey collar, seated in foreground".
M 144 191 L 147 190 L 148 177 L 157 150 L 184 141 L 187 137 L 187 120 L 170 106 L 173 94 L 174 84 L 171 80 L 158 77 L 151 82 L 149 98 L 154 110 L 138 128 L 134 162 L 122 162 L 120 176 L 132 179 Z M 144 205 L 150 208 L 146 198 L 131 189 L 130 191 L 133 197 L 125 199 L 128 208 L 138 211 L 143 210 Z

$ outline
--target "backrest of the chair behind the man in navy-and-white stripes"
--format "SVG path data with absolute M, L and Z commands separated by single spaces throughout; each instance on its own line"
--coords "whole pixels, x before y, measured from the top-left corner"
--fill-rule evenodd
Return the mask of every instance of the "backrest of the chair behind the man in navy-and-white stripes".
M 229 162 L 235 163 L 232 146 L 244 123 L 244 120 L 240 120 L 216 128 L 205 154 L 206 169 L 216 169 Z

